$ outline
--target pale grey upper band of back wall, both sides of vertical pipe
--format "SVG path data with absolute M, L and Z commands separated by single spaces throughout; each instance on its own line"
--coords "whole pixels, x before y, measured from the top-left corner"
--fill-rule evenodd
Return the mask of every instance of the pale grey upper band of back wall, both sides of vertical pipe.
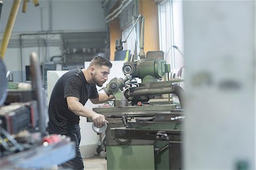
M 39 0 L 40 5 L 37 7 L 30 1 L 27 4 L 26 13 L 22 13 L 22 3 L 20 3 L 13 32 L 49 30 L 49 14 L 51 14 L 49 6 L 51 2 L 52 31 L 105 30 L 104 14 L 100 0 Z M 5 30 L 12 5 L 13 1 L 3 0 L 0 32 Z

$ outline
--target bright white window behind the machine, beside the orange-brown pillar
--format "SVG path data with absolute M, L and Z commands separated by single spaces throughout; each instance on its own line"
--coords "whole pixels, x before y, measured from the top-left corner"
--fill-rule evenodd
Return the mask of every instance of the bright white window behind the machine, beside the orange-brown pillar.
M 158 5 L 159 45 L 172 71 L 183 67 L 183 11 L 182 1 L 163 1 Z

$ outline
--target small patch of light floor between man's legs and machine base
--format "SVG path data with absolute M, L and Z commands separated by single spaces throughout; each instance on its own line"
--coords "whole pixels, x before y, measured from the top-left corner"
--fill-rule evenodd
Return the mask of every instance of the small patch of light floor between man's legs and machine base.
M 86 170 L 106 170 L 106 159 L 102 159 L 100 155 L 84 159 L 84 169 Z

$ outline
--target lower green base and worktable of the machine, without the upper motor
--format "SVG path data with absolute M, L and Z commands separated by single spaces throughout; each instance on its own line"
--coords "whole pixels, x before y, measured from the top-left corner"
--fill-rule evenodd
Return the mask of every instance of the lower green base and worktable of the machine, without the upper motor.
M 109 121 L 108 169 L 180 169 L 183 110 L 175 105 L 97 107 Z

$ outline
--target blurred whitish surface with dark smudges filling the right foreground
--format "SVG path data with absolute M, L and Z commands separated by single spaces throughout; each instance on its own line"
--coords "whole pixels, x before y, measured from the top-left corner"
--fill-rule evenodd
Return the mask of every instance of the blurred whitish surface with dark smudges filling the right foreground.
M 255 2 L 183 7 L 184 169 L 255 169 Z

